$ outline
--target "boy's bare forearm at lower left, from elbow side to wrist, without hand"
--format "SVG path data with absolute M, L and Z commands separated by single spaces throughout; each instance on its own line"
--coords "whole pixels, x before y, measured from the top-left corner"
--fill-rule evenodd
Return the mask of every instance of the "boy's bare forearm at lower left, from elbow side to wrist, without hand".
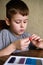
M 8 47 L 0 50 L 0 56 L 5 56 L 5 55 L 9 55 L 11 54 L 13 51 L 15 51 L 16 48 L 15 46 L 13 45 L 13 43 L 11 43 Z

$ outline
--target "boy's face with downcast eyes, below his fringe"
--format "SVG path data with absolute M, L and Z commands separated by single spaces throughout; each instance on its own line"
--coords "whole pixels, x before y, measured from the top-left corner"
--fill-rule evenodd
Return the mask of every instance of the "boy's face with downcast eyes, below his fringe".
M 21 35 L 25 32 L 28 22 L 28 16 L 16 14 L 11 18 L 10 29 L 16 35 Z

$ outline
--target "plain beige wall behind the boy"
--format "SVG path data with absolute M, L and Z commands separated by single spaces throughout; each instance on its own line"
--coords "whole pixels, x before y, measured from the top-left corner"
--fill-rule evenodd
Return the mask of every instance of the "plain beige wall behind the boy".
M 0 0 L 0 19 L 5 19 L 5 4 L 9 0 Z M 23 0 L 30 9 L 27 32 L 43 38 L 43 0 Z

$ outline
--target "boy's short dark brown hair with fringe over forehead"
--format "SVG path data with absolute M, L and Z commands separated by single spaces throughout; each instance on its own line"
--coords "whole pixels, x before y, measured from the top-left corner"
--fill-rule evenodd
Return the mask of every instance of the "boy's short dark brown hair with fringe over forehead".
M 6 4 L 6 17 L 11 19 L 14 14 L 28 15 L 29 8 L 21 0 L 11 0 Z

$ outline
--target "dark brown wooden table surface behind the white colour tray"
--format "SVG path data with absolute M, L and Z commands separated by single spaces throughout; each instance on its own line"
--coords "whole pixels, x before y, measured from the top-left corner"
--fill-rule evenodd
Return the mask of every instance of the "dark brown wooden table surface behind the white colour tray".
M 14 56 L 28 56 L 28 57 L 40 57 L 43 58 L 43 50 L 28 50 L 23 51 L 15 54 L 11 54 Z M 0 65 L 3 65 L 3 63 L 9 58 L 11 55 L 6 55 L 3 57 L 0 57 Z

